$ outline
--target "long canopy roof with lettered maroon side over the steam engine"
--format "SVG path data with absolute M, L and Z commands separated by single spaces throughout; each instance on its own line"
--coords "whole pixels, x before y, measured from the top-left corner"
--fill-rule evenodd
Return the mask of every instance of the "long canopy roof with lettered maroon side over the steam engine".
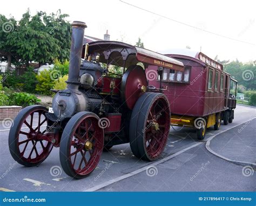
M 184 71 L 184 64 L 174 58 L 143 49 L 138 46 L 113 41 L 98 41 L 89 43 L 89 55 L 95 59 L 99 54 L 99 61 L 106 64 L 129 67 L 142 62 L 145 66 L 157 65 L 172 70 Z

